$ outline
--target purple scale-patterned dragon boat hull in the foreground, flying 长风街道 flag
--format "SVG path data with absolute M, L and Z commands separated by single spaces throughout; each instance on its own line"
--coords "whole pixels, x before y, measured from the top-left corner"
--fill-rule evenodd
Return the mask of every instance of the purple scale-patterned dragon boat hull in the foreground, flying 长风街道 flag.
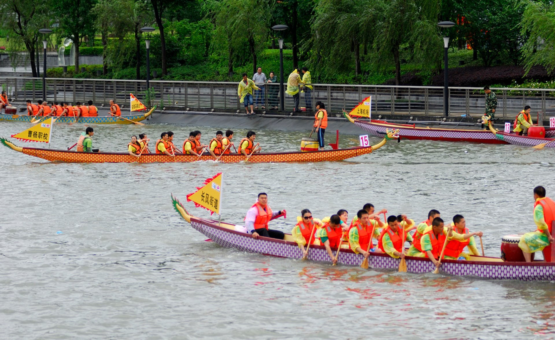
M 223 223 L 216 220 L 199 218 L 190 215 L 183 204 L 173 195 L 171 200 L 175 210 L 193 226 L 216 244 L 225 248 L 235 248 L 249 253 L 301 259 L 302 252 L 295 243 L 291 234 L 285 234 L 284 240 L 254 238 L 250 234 L 240 231 L 235 224 Z M 333 248 L 332 253 L 337 254 Z M 311 245 L 308 259 L 331 264 L 326 248 L 321 245 Z M 341 245 L 338 265 L 360 266 L 364 257 L 355 254 L 347 244 Z M 423 257 L 406 256 L 407 272 L 425 274 L 435 270 L 432 261 Z M 397 270 L 401 259 L 393 259 L 387 254 L 371 253 L 369 266 L 374 269 Z M 495 280 L 519 281 L 551 281 L 555 280 L 555 264 L 553 262 L 534 261 L 514 262 L 503 261 L 501 257 L 470 256 L 470 260 L 442 260 L 440 271 L 449 275 L 475 276 Z

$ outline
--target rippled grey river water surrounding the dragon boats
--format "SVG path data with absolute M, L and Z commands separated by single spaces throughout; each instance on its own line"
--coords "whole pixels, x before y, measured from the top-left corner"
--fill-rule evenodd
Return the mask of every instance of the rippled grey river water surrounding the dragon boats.
M 0 136 L 27 127 L 2 122 Z M 94 128 L 94 147 L 105 151 L 125 151 L 141 132 L 155 140 L 172 130 L 181 145 L 192 129 L 206 142 L 216 130 Z M 73 145 L 83 129 L 54 126 L 52 148 Z M 246 131 L 236 132 L 239 140 Z M 266 151 L 298 150 L 307 135 L 257 132 Z M 341 136 L 340 146 L 357 143 Z M 445 220 L 461 213 L 471 231 L 484 231 L 486 255 L 499 256 L 503 235 L 535 228 L 532 189 L 555 192 L 553 152 L 403 140 L 344 162 L 64 164 L 2 146 L 0 338 L 552 338 L 553 282 L 400 274 L 221 248 L 180 218 L 170 193 L 208 217 L 185 197 L 223 172 L 223 220 L 241 223 L 267 192 L 274 210 L 289 213 L 272 223 L 286 232 L 303 208 L 315 217 L 343 208 L 352 218 L 370 202 L 418 222 L 430 209 Z

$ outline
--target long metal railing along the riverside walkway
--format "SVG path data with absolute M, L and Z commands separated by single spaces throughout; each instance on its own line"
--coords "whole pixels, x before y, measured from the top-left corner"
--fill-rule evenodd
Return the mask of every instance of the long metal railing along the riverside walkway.
M 42 78 L 0 78 L 9 99 L 16 102 L 42 99 Z M 178 107 L 186 110 L 244 110 L 239 102 L 236 83 L 201 81 L 151 80 L 154 104 Z M 264 106 L 279 106 L 279 84 L 266 84 Z M 339 115 L 342 109 L 350 111 L 363 99 L 372 96 L 372 116 L 377 115 L 443 115 L 443 87 L 440 86 L 388 86 L 388 85 L 337 85 L 314 84 L 312 107 L 322 101 L 330 114 Z M 95 105 L 108 104 L 114 99 L 129 107 L 129 94 L 144 100 L 146 85 L 143 80 L 104 80 L 48 78 L 47 100 L 64 102 L 87 102 Z M 492 88 L 497 94 L 496 117 L 512 119 L 524 105 L 542 117 L 555 115 L 555 89 Z M 450 87 L 450 115 L 481 115 L 485 96 L 480 87 Z M 255 94 L 256 97 L 256 94 Z M 301 106 L 305 106 L 306 92 L 301 92 Z M 285 96 L 286 110 L 292 111 L 293 99 Z M 259 105 L 261 106 L 261 105 Z

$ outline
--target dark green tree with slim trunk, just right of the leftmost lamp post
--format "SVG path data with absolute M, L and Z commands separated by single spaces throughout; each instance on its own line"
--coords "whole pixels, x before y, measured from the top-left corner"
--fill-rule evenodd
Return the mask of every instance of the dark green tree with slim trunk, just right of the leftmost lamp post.
M 96 0 L 56 0 L 53 2 L 56 17 L 59 19 L 57 32 L 69 37 L 75 45 L 75 73 L 79 73 L 79 47 L 84 37 L 93 38 L 95 21 L 92 9 Z M 62 38 L 63 39 L 63 38 Z

